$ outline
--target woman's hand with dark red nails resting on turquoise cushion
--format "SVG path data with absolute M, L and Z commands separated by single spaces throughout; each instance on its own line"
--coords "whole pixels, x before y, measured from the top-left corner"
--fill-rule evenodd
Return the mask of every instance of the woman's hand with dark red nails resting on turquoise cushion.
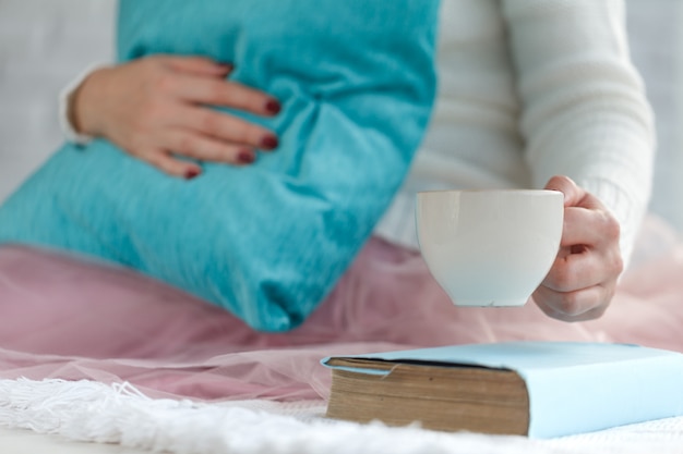
M 272 150 L 268 130 L 209 106 L 271 116 L 273 97 L 226 81 L 231 66 L 197 57 L 154 56 L 93 72 L 74 93 L 70 120 L 76 131 L 106 137 L 130 155 L 171 175 L 200 174 L 194 162 L 249 164 L 255 149 Z

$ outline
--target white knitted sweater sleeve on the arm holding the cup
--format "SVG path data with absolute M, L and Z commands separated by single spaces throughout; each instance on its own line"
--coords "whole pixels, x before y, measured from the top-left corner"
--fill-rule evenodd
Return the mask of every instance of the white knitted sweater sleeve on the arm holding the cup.
M 572 177 L 614 213 L 627 263 L 651 192 L 655 133 L 619 0 L 503 0 L 535 186 Z

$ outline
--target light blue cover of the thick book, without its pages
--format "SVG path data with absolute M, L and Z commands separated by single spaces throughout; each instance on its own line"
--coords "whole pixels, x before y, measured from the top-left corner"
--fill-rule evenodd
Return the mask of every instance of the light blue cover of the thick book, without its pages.
M 683 354 L 678 352 L 632 344 L 508 342 L 348 357 L 514 370 L 527 384 L 531 438 L 683 415 Z M 335 368 L 326 364 L 328 359 L 322 364 Z

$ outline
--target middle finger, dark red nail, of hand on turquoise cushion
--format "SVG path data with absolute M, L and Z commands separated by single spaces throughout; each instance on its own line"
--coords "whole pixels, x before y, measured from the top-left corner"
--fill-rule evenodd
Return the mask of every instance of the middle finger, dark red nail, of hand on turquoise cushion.
M 247 145 L 263 150 L 273 150 L 278 139 L 271 131 L 237 116 L 203 107 L 185 107 L 176 118 L 176 126 L 194 130 L 235 145 Z

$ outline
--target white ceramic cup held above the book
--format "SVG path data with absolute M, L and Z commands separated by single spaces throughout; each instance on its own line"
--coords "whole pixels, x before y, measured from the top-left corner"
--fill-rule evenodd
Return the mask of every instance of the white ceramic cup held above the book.
M 418 193 L 422 257 L 457 306 L 522 306 L 558 255 L 563 200 L 555 191 Z

